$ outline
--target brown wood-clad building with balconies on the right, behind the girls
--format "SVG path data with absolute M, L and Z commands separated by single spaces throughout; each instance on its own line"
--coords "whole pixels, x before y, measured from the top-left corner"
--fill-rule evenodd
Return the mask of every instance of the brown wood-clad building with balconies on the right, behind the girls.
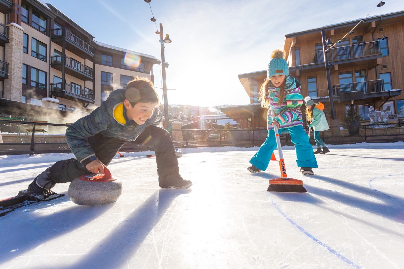
M 284 50 L 289 72 L 300 80 L 303 97 L 310 96 L 315 102 L 324 103 L 324 112 L 331 125 L 329 92 L 340 126 L 344 125 L 343 119 L 351 103 L 364 123 L 369 122 L 366 120 L 369 120 L 370 106 L 404 118 L 403 33 L 404 11 L 399 11 L 287 34 Z M 328 39 L 334 43 L 326 51 L 330 91 L 323 51 Z M 265 127 L 266 113 L 259 107 L 257 91 L 266 76 L 266 70 L 240 74 L 238 78 L 251 104 L 242 109 L 226 108 L 227 111 L 222 111 L 234 119 L 234 114 L 245 111 L 240 116 L 242 122 L 251 120 L 253 128 Z M 349 99 L 349 94 L 358 92 L 363 95 Z

